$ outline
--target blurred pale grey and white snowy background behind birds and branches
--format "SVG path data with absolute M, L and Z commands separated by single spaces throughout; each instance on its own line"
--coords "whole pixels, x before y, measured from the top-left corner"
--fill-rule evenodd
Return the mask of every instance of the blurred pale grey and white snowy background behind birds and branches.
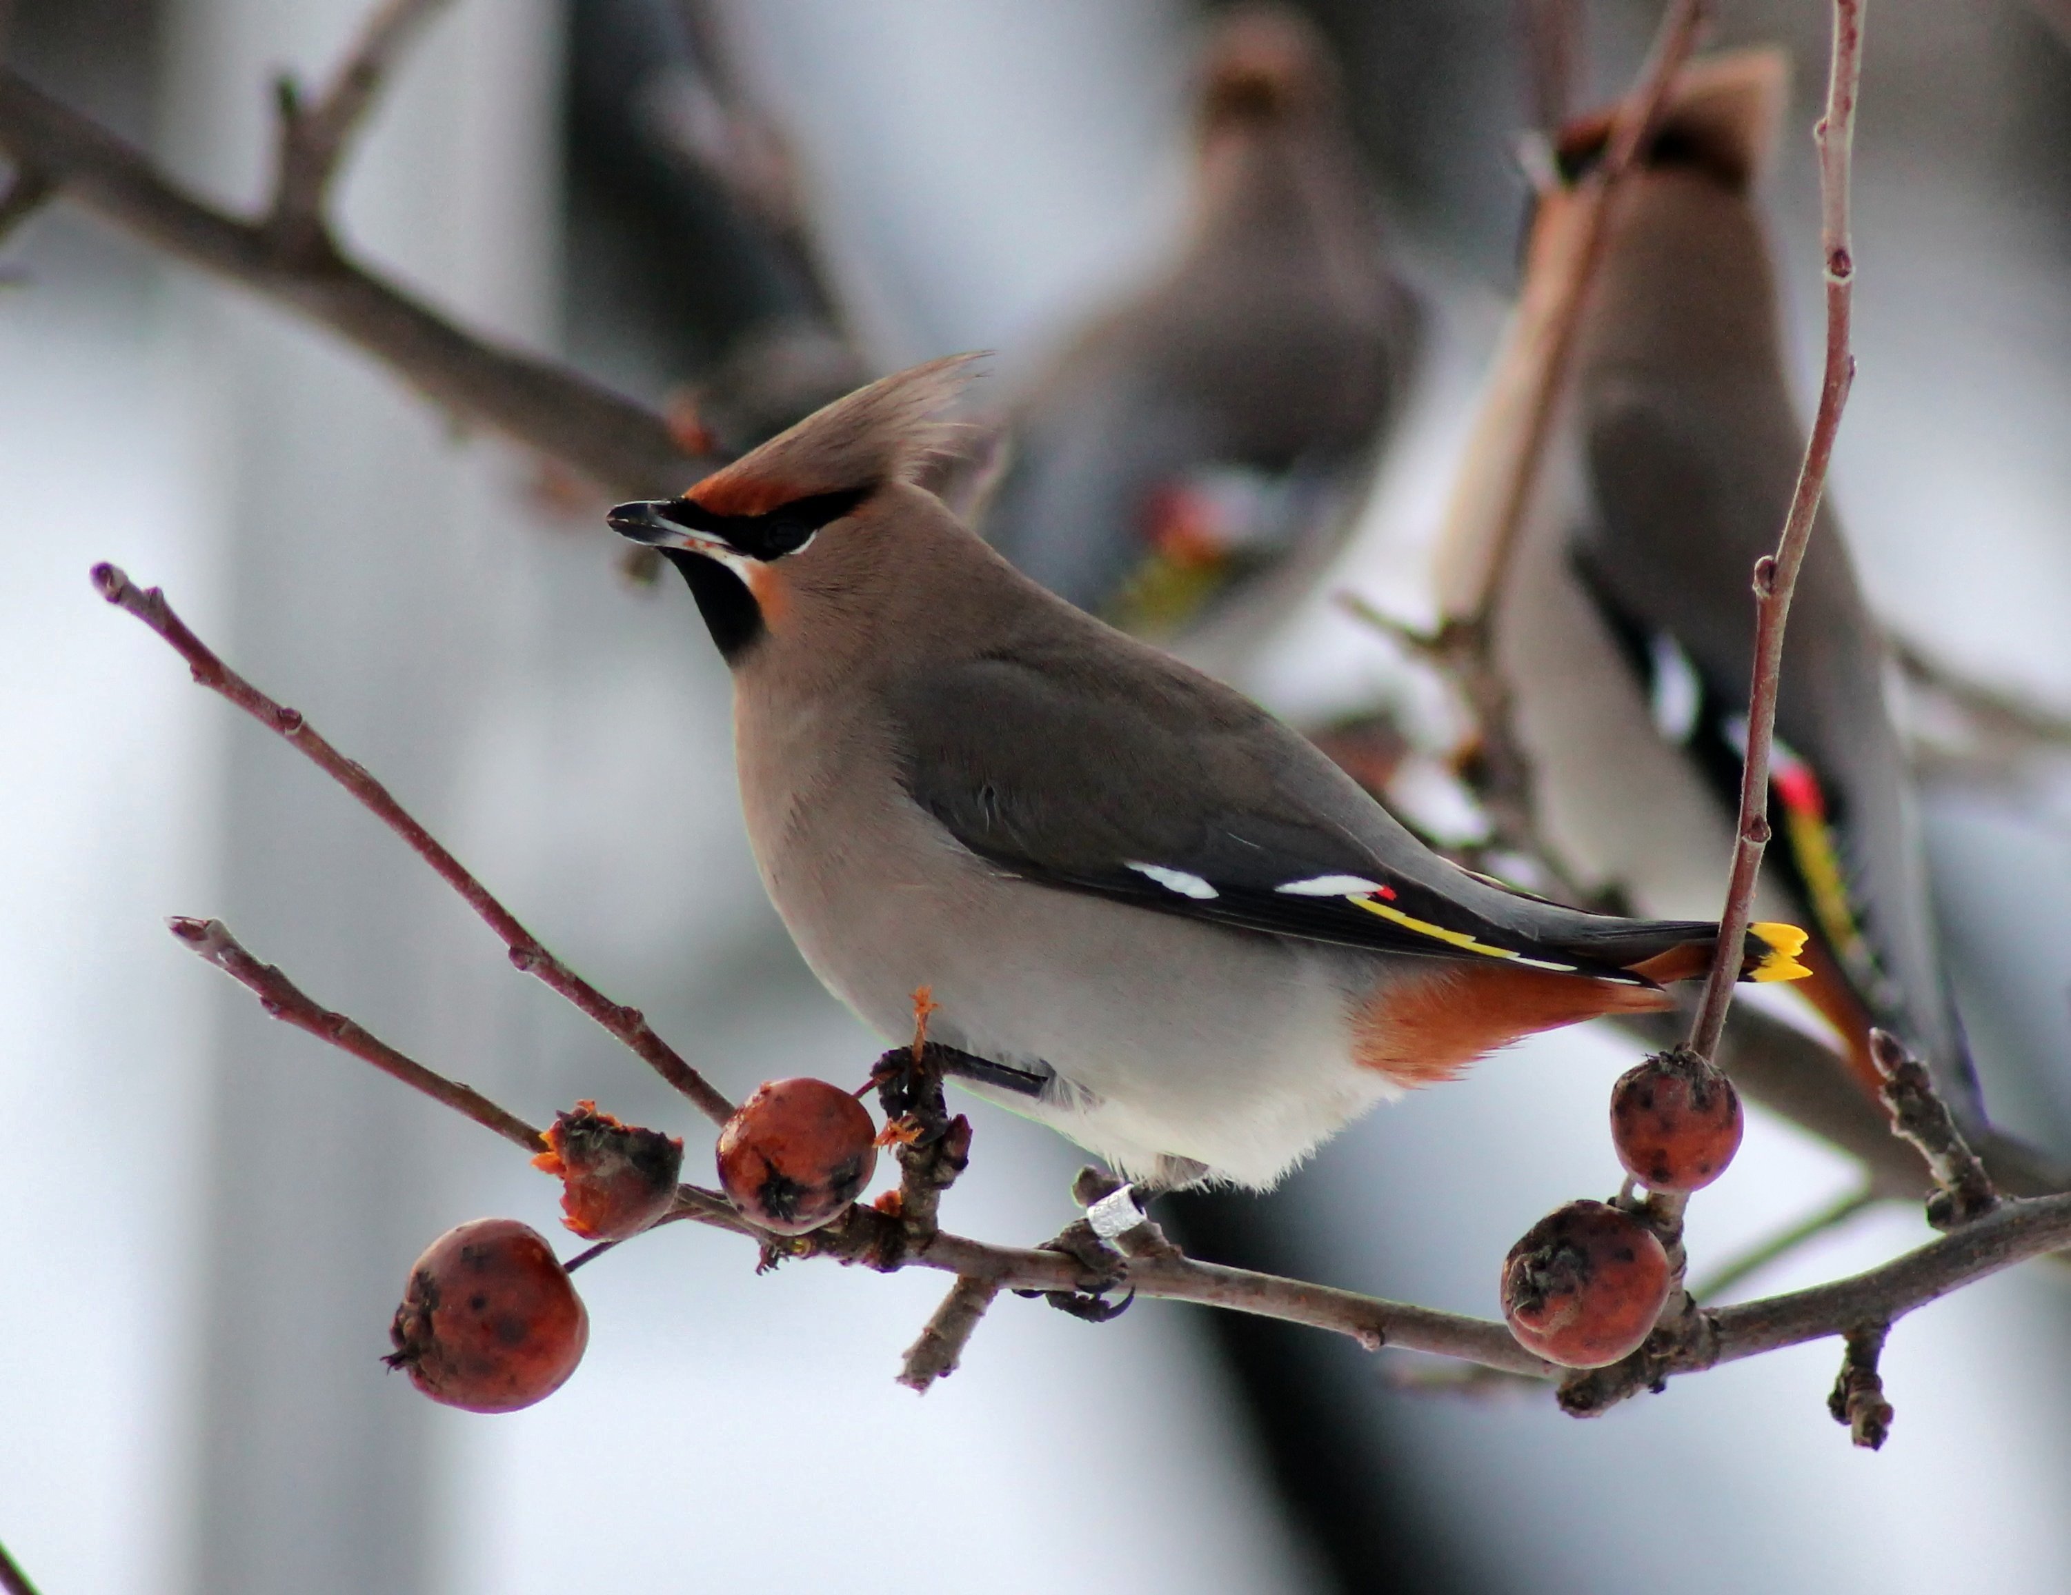
M 249 207 L 269 77 L 321 79 L 360 8 L 17 0 L 8 54 Z M 1514 290 L 1516 15 L 1311 10 L 1441 290 L 1417 458 L 1390 489 L 1400 520 L 1429 524 Z M 994 348 L 1011 385 L 1176 226 L 1193 4 L 700 15 L 789 139 L 810 255 L 770 251 L 632 139 L 648 66 L 696 56 L 667 0 L 460 0 L 375 112 L 342 184 L 346 236 L 470 325 L 661 400 L 717 379 L 743 338 L 810 329 L 828 292 L 870 371 Z M 1595 93 L 1630 77 L 1655 15 L 1591 8 Z M 1814 0 L 1731 0 L 1717 35 L 1798 54 L 1771 205 L 1806 371 L 1825 29 Z M 1835 491 L 1909 636 L 2059 706 L 2065 151 L 2071 50 L 2036 10 L 1874 2 L 1862 377 Z M 1093 1328 L 1004 1301 L 915 1400 L 891 1375 L 936 1278 L 756 1278 L 748 1249 L 688 1224 L 584 1274 L 592 1344 L 557 1398 L 497 1419 L 420 1400 L 377 1361 L 408 1259 L 487 1212 L 551 1230 L 551 1183 L 261 1017 L 162 916 L 224 916 L 319 1001 L 528 1116 L 596 1096 L 688 1133 L 692 1170 L 704 1129 L 516 978 L 364 814 L 108 613 L 93 559 L 164 584 L 723 1090 L 859 1077 L 874 1044 L 762 899 L 725 671 L 677 588 L 628 584 L 532 462 L 456 435 L 350 348 L 62 205 L 4 259 L 21 282 L 0 290 L 0 1539 L 46 1595 L 2071 1589 L 2071 1293 L 2040 1268 L 1905 1320 L 1885 1359 L 1897 1429 L 1874 1456 L 1827 1419 L 1833 1346 L 1582 1425 L 1541 1400 L 1402 1392 L 1323 1336 L 1164 1303 Z M 1313 628 L 1270 673 L 1278 698 L 1383 686 L 1385 655 Z M 2071 1150 L 2071 802 L 2063 783 L 1945 787 L 1930 816 L 1994 1106 Z M 1357 1125 L 1280 1193 L 1178 1222 L 1212 1255 L 1491 1313 L 1510 1241 L 1615 1187 L 1603 1098 L 1630 1061 L 1609 1034 L 1530 1042 Z M 1079 1158 L 975 1112 L 946 1222 L 1054 1232 Z M 1698 1270 L 1849 1181 L 1756 1116 L 1694 1204 Z M 1868 1214 L 1754 1284 L 1924 1235 Z

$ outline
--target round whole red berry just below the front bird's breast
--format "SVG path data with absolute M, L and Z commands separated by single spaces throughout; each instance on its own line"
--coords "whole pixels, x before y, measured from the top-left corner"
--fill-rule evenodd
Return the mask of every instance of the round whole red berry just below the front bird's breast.
M 770 1079 L 719 1131 L 719 1183 L 766 1230 L 839 1218 L 878 1166 L 876 1125 L 824 1079 Z

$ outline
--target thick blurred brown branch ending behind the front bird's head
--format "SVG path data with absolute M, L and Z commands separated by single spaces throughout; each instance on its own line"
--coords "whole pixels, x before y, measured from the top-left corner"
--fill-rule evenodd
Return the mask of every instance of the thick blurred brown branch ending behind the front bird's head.
M 329 327 L 433 404 L 613 493 L 675 493 L 717 464 L 578 371 L 456 325 L 348 253 L 290 257 L 261 222 L 205 203 L 137 145 L 0 66 L 0 149 L 124 232 Z

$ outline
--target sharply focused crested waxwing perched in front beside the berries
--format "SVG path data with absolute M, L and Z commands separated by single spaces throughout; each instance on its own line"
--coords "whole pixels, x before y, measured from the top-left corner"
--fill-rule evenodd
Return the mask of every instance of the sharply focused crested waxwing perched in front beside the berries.
M 1265 711 L 986 547 L 915 485 L 967 365 L 611 512 L 733 669 L 762 880 L 864 1021 L 909 1038 L 926 986 L 984 1096 L 1156 1185 L 1263 1187 L 1381 1098 L 1704 969 L 1713 924 L 1466 874 Z M 1756 926 L 1746 974 L 1796 976 L 1802 943 Z

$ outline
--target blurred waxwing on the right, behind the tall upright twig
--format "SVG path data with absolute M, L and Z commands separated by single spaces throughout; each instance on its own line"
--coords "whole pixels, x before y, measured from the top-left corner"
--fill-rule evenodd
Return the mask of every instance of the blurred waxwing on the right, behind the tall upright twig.
M 1491 570 L 1489 543 L 1456 524 L 1439 555 L 1450 615 L 1491 605 L 1541 841 L 1580 887 L 1640 914 L 1719 901 L 1754 661 L 1750 572 L 1775 549 L 1804 452 L 1750 195 L 1785 91 L 1775 50 L 1684 72 L 1613 195 L 1514 547 Z M 1570 174 L 1601 155 L 1607 128 L 1609 116 L 1566 128 Z M 1570 222 L 1568 203 L 1541 203 L 1528 273 L 1557 255 L 1547 238 Z M 1866 1090 L 1878 1083 L 1874 1023 L 1982 1127 L 1885 704 L 1885 642 L 1829 510 L 1791 605 L 1771 800 L 1758 911 L 1814 932 L 1796 990 L 1835 1025 Z

